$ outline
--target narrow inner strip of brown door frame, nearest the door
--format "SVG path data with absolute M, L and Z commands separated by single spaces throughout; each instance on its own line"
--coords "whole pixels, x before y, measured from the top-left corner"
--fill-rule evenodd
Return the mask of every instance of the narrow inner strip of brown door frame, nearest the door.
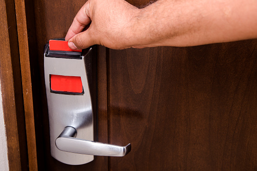
M 28 164 L 30 170 L 37 170 L 37 148 L 35 136 L 34 115 L 36 109 L 33 96 L 36 92 L 32 90 L 33 84 L 31 74 L 35 72 L 35 33 L 34 33 L 34 14 L 33 2 L 15 0 L 17 33 L 19 40 L 20 67 L 23 88 L 24 116 L 27 135 Z M 34 44 L 34 45 L 33 45 Z M 32 72 L 31 72 L 32 71 Z

